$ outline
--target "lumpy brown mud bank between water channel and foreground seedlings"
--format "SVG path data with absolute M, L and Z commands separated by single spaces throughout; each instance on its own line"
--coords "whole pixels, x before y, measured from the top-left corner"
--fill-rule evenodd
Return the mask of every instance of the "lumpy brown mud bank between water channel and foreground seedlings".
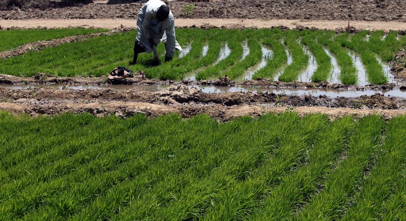
M 326 113 L 331 117 L 346 114 L 380 114 L 386 118 L 406 113 L 406 99 L 380 94 L 357 98 L 275 95 L 273 93 L 202 93 L 184 85 L 157 92 L 111 89 L 7 89 L 0 88 L 0 109 L 31 116 L 66 112 L 115 114 L 127 117 L 144 113 L 155 117 L 178 113 L 183 117 L 209 114 L 220 121 L 239 116 L 259 116 L 286 110 L 301 114 Z

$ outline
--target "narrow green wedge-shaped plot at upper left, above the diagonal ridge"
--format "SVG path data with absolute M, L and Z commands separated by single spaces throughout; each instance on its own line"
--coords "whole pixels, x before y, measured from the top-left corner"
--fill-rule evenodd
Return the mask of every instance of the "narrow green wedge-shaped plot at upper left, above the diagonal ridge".
M 95 32 L 108 31 L 107 29 L 15 29 L 0 30 L 0 51 L 10 50 L 21 45 L 51 39 L 60 39 L 66 36 L 90 34 Z

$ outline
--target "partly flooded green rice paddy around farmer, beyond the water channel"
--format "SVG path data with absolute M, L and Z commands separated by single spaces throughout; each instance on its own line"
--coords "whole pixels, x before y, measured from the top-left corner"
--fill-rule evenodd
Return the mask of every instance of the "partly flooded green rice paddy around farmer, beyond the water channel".
M 15 44 L 3 42 L 0 49 L 61 34 L 84 33 L 84 30 L 5 30 L 0 32 L 2 39 L 12 41 L 13 34 L 20 39 Z M 177 40 L 184 50 L 176 52 L 173 61 L 152 66 L 151 54 L 142 53 L 138 64 L 133 66 L 129 63 L 135 35 L 135 31 L 130 31 L 98 36 L 4 58 L 0 73 L 25 77 L 39 72 L 61 77 L 97 77 L 117 66 L 126 66 L 143 70 L 147 78 L 160 80 L 210 80 L 227 75 L 235 81 L 265 78 L 283 82 L 386 84 L 395 83 L 388 62 L 406 45 L 406 35 L 395 31 L 337 34 L 309 29 L 181 28 L 177 29 Z M 163 61 L 163 44 L 158 52 Z

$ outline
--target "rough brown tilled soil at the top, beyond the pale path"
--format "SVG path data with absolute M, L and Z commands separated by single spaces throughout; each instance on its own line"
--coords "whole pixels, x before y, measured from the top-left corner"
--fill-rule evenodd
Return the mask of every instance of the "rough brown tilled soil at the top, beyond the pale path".
M 187 1 L 170 2 L 176 17 L 186 17 Z M 192 19 L 359 20 L 406 22 L 403 0 L 218 0 L 196 2 Z M 141 4 L 89 4 L 45 10 L 15 8 L 0 11 L 0 18 L 21 19 L 136 19 Z

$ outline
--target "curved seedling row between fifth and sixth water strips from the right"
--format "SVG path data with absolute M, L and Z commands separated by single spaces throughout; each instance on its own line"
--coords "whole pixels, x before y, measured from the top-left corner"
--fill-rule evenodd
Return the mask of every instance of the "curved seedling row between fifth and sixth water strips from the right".
M 286 56 L 284 46 L 280 42 L 281 37 L 282 31 L 274 35 L 271 35 L 268 38 L 264 38 L 263 44 L 272 49 L 273 56 L 272 58 L 269 58 L 264 68 L 254 73 L 252 79 L 257 78 L 273 79 L 276 74 L 276 70 L 278 70 L 287 63 L 288 57 Z

